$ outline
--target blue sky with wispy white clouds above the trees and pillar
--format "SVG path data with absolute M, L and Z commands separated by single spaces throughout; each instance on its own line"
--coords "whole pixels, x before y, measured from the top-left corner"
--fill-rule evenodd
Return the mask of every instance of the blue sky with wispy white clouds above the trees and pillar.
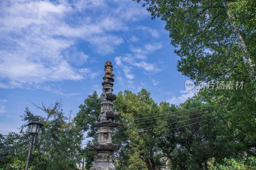
M 75 115 L 102 91 L 104 63 L 116 75 L 114 94 L 145 88 L 156 101 L 180 104 L 192 91 L 177 71 L 165 22 L 132 0 L 0 2 L 0 133 L 18 132 L 30 102 L 63 101 Z M 29 101 L 30 100 L 30 101 Z

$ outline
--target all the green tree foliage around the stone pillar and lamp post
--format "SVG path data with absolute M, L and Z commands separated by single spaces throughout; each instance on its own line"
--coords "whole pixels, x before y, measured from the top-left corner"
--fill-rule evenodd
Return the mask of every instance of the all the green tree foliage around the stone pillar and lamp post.
M 223 81 L 225 86 L 217 89 L 206 85 L 179 106 L 157 104 L 145 89 L 137 94 L 119 92 L 113 107 L 120 113 L 121 121 L 113 136 L 115 143 L 122 144 L 115 152 L 117 169 L 255 169 L 256 1 L 144 2 L 152 18 L 166 22 L 171 44 L 180 56 L 178 71 L 196 83 L 216 85 Z M 241 49 L 237 33 L 247 50 Z M 250 63 L 244 62 L 244 58 Z M 228 82 L 236 85 L 236 81 L 244 82 L 243 87 L 227 86 Z M 20 128 L 23 135 L 0 135 L 0 168 L 24 169 L 30 141 L 27 124 L 36 118 L 45 126 L 35 138 L 30 170 L 77 169 L 76 164 L 83 157 L 85 167 L 90 168 L 96 153 L 87 147 L 82 149 L 80 130 L 87 131 L 86 137 L 92 137 L 89 143 L 97 142 L 97 93 L 84 100 L 74 120 L 64 116 L 60 102 L 40 108 L 44 116 L 35 116 L 26 108 L 21 116 L 25 122 Z M 80 130 L 52 133 L 71 128 Z

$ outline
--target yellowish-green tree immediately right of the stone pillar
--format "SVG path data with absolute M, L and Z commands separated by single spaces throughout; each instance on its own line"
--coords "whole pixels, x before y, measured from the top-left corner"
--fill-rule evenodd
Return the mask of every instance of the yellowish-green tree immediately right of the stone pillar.
M 150 93 L 142 89 L 138 94 L 125 90 L 119 92 L 114 107 L 120 113 L 121 127 L 115 130 L 113 139 L 127 138 L 117 140 L 122 143 L 120 151 L 117 151 L 118 169 L 150 169 L 158 170 L 164 166 L 160 159 L 160 148 L 156 145 L 155 139 L 151 136 L 142 136 L 141 134 L 152 133 L 153 129 L 148 128 L 155 123 L 147 123 L 147 120 L 141 118 L 157 115 L 160 111 L 159 106 L 150 97 Z M 131 119 L 141 119 L 143 121 L 129 121 Z M 144 122 L 144 124 L 141 124 Z M 147 130 L 138 130 L 148 128 Z M 123 133 L 124 132 L 124 133 Z M 137 136 L 137 137 L 135 137 Z M 140 158 L 140 159 L 138 159 Z

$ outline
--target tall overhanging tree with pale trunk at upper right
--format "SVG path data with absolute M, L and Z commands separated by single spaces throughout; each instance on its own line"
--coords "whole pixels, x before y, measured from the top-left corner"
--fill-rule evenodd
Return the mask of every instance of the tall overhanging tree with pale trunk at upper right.
M 140 2 L 140 0 L 137 0 Z M 214 82 L 198 98 L 209 104 L 229 100 L 222 115 L 233 132 L 232 154 L 255 156 L 256 143 L 256 2 L 250 0 L 144 0 L 152 19 L 166 22 L 177 68 L 195 82 Z M 239 38 L 240 36 L 240 38 Z M 237 39 L 239 38 L 239 39 Z M 244 44 L 241 43 L 244 41 Z M 246 50 L 245 50 L 246 49 Z M 245 62 L 245 59 L 251 62 Z M 217 81 L 226 85 L 216 89 Z M 236 81 L 243 88 L 236 89 Z M 234 88 L 228 88 L 234 83 Z

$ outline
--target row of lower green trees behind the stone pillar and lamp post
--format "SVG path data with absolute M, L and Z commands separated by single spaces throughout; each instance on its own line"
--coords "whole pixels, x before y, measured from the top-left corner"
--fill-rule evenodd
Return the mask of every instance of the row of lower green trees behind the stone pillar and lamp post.
M 113 107 L 120 113 L 121 121 L 113 136 L 114 143 L 122 144 L 114 153 L 117 169 L 253 169 L 254 136 L 237 134 L 239 131 L 233 128 L 230 119 L 230 115 L 236 114 L 229 107 L 239 102 L 225 100 L 210 104 L 198 94 L 175 106 L 167 102 L 157 104 L 145 89 L 137 94 L 119 92 Z M 24 169 L 30 140 L 26 135 L 27 124 L 39 118 L 44 127 L 35 138 L 29 168 L 77 169 L 76 164 L 84 157 L 85 168 L 89 169 L 96 153 L 80 146 L 81 130 L 87 131 L 86 137 L 92 137 L 88 143 L 97 142 L 94 122 L 100 113 L 99 106 L 100 98 L 94 92 L 80 105 L 74 120 L 64 116 L 59 102 L 52 107 L 40 107 L 45 117 L 35 116 L 26 108 L 21 116 L 26 122 L 20 128 L 23 135 L 1 136 L 0 166 Z M 247 120 L 247 123 L 253 122 Z M 76 129 L 68 130 L 72 128 Z

